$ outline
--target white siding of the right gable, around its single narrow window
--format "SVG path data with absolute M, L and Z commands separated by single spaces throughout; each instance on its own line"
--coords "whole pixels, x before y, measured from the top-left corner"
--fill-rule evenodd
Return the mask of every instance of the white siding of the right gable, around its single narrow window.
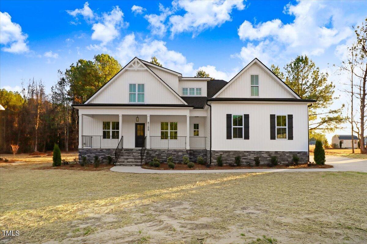
M 260 98 L 295 98 L 258 64 L 251 65 L 217 97 L 251 97 L 251 75 L 259 75 Z

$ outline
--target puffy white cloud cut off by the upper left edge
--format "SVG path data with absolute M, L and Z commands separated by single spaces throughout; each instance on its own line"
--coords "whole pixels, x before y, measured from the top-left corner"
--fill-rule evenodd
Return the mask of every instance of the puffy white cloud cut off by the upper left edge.
M 0 12 L 0 44 L 5 52 L 25 53 L 29 52 L 27 45 L 28 35 L 22 33 L 22 27 L 11 21 L 7 12 Z

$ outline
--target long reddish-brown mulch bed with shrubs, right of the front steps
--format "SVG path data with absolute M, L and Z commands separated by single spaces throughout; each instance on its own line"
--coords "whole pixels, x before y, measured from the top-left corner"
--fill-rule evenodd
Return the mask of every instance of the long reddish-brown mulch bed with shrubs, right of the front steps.
M 156 167 L 152 167 L 149 166 L 149 164 L 144 164 L 142 165 L 143 169 L 158 169 L 158 170 L 172 170 L 170 168 L 168 168 L 167 163 L 161 163 L 161 165 L 159 166 L 159 168 Z M 217 165 L 211 165 L 209 168 L 206 167 L 206 165 L 201 165 L 201 164 L 195 164 L 195 166 L 191 169 L 189 169 L 187 167 L 186 164 L 175 164 L 175 168 L 173 170 L 198 170 L 198 169 L 328 169 L 328 168 L 333 168 L 333 165 L 317 165 L 317 164 L 312 164 L 312 166 L 307 166 L 307 164 L 299 164 L 297 166 L 285 166 L 285 165 L 277 165 L 275 167 L 268 167 L 266 165 L 264 166 L 254 166 L 254 167 L 249 167 L 249 166 L 229 166 L 229 165 L 223 165 L 222 167 L 219 167 Z

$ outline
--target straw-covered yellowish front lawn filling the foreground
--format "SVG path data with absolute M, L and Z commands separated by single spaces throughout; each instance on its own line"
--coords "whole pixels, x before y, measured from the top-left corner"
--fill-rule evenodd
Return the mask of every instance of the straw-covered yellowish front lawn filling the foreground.
M 39 169 L 47 165 L 1 164 L 0 229 L 20 232 L 2 243 L 367 241 L 366 173 Z

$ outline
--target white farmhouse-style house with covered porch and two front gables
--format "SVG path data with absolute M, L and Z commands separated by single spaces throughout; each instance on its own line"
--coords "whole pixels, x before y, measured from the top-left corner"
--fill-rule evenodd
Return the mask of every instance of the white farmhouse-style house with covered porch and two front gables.
M 79 110 L 79 160 L 116 165 L 187 155 L 225 164 L 309 160 L 308 106 L 258 59 L 229 82 L 184 77 L 135 57 Z

